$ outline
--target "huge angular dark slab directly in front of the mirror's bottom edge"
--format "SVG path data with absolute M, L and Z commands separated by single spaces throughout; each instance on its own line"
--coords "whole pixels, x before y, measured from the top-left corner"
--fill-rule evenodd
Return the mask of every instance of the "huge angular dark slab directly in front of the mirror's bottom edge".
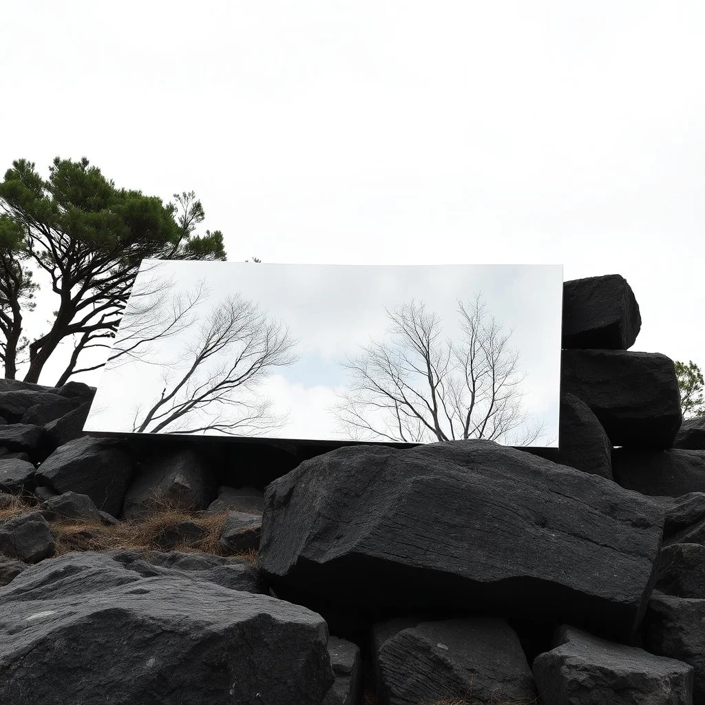
M 356 446 L 268 486 L 259 565 L 297 601 L 472 603 L 631 632 L 663 521 L 648 498 L 492 441 Z

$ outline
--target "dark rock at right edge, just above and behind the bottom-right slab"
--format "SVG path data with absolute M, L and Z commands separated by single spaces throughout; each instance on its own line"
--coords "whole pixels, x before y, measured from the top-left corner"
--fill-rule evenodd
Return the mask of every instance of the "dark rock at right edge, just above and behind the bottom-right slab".
M 693 667 L 693 704 L 705 704 L 705 600 L 654 591 L 642 627 L 644 648 Z

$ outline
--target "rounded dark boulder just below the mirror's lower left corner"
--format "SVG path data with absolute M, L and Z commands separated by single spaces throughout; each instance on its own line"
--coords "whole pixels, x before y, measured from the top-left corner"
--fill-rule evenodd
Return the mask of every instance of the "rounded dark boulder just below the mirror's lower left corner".
M 76 439 L 54 450 L 37 468 L 37 484 L 58 494 L 87 494 L 94 504 L 117 516 L 135 461 L 118 439 Z

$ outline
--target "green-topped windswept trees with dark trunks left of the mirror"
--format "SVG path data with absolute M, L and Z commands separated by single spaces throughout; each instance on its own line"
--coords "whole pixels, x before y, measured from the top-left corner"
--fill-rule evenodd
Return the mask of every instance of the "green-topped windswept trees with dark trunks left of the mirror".
M 204 209 L 194 192 L 176 203 L 117 188 L 85 157 L 56 157 L 49 179 L 33 162 L 13 161 L 0 182 L 0 331 L 5 374 L 16 374 L 22 302 L 37 284 L 27 264 L 49 280 L 57 308 L 49 330 L 28 345 L 25 381 L 37 382 L 59 343 L 73 338 L 71 360 L 57 385 L 93 367 L 82 351 L 113 338 L 142 259 L 226 259 L 220 231 L 195 234 Z

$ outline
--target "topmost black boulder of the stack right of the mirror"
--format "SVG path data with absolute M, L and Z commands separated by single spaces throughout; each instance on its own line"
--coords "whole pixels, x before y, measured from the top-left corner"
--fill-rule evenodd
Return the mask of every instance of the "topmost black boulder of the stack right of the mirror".
M 623 276 L 563 283 L 563 348 L 627 350 L 641 327 L 639 304 Z

